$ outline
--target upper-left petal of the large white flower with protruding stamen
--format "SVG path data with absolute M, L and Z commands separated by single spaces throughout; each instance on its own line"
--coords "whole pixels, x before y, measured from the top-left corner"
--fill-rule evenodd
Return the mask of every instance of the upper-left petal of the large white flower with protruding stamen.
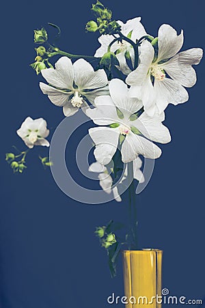
M 60 57 L 55 63 L 55 68 L 41 70 L 42 76 L 48 84 L 61 89 L 72 89 L 73 67 L 68 57 Z

